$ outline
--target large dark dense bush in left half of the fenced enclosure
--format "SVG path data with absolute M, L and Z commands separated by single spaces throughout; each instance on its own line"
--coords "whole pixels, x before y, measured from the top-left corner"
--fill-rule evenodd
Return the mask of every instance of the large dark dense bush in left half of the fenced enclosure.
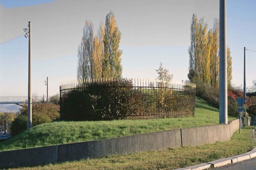
M 126 79 L 91 82 L 86 89 L 63 95 L 60 117 L 64 120 L 113 120 L 126 116 L 132 105 L 129 103 L 132 87 L 132 82 Z

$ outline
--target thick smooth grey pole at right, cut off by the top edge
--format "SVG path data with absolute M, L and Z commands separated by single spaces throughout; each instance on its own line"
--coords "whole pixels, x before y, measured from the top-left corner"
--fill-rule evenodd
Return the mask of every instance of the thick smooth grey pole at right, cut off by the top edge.
M 219 0 L 219 123 L 228 124 L 227 6 Z

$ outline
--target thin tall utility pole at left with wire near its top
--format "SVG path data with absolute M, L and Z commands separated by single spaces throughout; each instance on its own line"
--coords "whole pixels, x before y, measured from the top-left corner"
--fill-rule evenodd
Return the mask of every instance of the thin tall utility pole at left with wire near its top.
M 32 99 L 31 99 L 31 22 L 28 22 L 28 98 L 27 98 L 27 129 L 32 126 Z

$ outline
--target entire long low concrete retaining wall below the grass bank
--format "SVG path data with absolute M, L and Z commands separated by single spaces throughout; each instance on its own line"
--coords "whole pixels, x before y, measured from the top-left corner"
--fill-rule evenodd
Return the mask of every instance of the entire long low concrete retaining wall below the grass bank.
M 35 166 L 47 163 L 99 158 L 110 154 L 125 154 L 161 150 L 180 146 L 196 146 L 230 140 L 239 128 L 239 120 L 89 142 L 0 152 L 0 168 Z

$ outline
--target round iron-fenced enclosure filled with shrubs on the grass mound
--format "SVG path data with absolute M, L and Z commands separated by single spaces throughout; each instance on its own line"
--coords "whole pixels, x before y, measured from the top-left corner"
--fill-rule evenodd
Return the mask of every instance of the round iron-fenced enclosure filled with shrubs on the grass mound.
M 60 86 L 63 120 L 195 116 L 195 84 L 141 79 L 86 79 Z

